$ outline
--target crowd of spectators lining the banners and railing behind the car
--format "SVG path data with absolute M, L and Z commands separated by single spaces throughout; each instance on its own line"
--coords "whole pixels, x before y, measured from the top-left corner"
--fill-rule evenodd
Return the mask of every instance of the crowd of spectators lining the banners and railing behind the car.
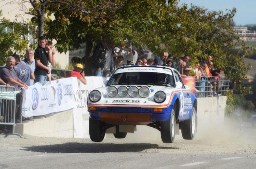
M 0 84 L 7 87 L 14 86 L 18 90 L 21 87 L 27 89 L 28 86 L 36 82 L 45 85 L 47 80 L 49 83 L 51 80 L 58 80 L 51 75 L 52 66 L 55 66 L 55 50 L 52 50 L 52 46 L 52 42 L 42 36 L 38 39 L 38 47 L 35 52 L 32 49 L 27 49 L 23 60 L 20 60 L 17 54 L 7 57 L 6 66 L 0 71 Z M 181 77 L 195 75 L 195 80 L 199 81 L 196 86 L 202 86 L 198 89 L 201 92 L 207 91 L 204 89 L 204 86 L 209 86 L 206 84 L 206 80 L 213 81 L 210 86 L 215 91 L 212 94 L 216 95 L 219 86 L 218 79 L 222 77 L 223 73 L 221 69 L 214 68 L 212 56 L 196 63 L 195 68 L 190 66 L 190 59 L 189 55 L 177 58 L 167 51 L 163 52 L 162 56 L 151 59 L 148 58 L 145 50 L 136 51 L 128 43 L 116 47 L 114 43 L 103 38 L 102 42 L 93 50 L 91 72 L 93 76 L 109 77 L 117 68 L 125 65 L 167 66 L 177 69 Z M 87 83 L 84 66 L 81 63 L 77 63 L 73 71 L 68 72 L 65 77 L 72 76 L 77 77 L 83 84 Z

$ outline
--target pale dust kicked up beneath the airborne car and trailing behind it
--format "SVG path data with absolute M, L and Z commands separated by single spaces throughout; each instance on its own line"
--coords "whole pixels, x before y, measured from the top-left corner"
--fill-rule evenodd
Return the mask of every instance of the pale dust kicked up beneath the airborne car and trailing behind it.
M 113 138 L 107 134 L 106 138 Z M 188 140 L 191 141 L 191 140 Z M 137 126 L 137 131 L 128 133 L 125 139 L 118 142 L 129 143 L 162 143 L 160 131 L 149 126 Z M 175 142 L 183 142 L 181 131 L 175 136 Z M 256 127 L 241 117 L 218 117 L 215 115 L 198 115 L 198 127 L 193 143 L 230 144 L 256 143 Z

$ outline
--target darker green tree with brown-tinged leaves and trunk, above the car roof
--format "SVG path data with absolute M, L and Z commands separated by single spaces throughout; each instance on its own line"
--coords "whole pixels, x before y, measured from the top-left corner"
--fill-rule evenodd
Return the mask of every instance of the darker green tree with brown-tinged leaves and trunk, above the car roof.
M 84 60 L 87 68 L 90 67 L 93 45 L 99 43 L 102 37 L 116 44 L 124 43 L 124 39 L 128 38 L 133 45 L 140 47 L 147 44 L 160 54 L 157 50 L 160 49 L 160 38 L 152 31 L 157 27 L 153 18 L 157 17 L 155 9 L 159 9 L 162 4 L 165 1 L 113 0 L 108 8 L 101 10 L 101 3 L 87 1 L 81 10 L 75 12 L 65 5 L 51 7 L 48 10 L 54 13 L 56 19 L 47 22 L 49 29 L 46 34 L 50 39 L 57 40 L 56 47 L 61 52 L 77 49 L 86 42 L 87 54 Z M 93 9 L 93 6 L 99 8 Z M 83 10 L 85 7 L 87 11 Z

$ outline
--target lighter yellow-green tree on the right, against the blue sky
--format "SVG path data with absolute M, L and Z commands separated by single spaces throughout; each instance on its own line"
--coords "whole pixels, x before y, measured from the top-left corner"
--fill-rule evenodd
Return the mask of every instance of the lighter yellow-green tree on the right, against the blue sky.
M 222 11 L 207 11 L 206 9 L 192 6 L 187 9 L 183 6 L 180 10 L 180 26 L 177 32 L 170 33 L 166 40 L 166 46 L 174 54 L 190 54 L 192 60 L 206 60 L 208 55 L 213 56 L 214 66 L 224 70 L 225 75 L 238 85 L 246 78 L 246 72 L 250 66 L 244 64 L 243 57 L 248 55 L 251 49 L 242 43 L 242 48 L 233 53 L 230 49 L 236 47 L 239 36 L 233 30 L 231 22 L 236 9 L 223 14 Z M 166 14 L 167 15 L 167 14 Z M 168 17 L 165 17 L 168 19 Z M 171 22 L 167 20 L 170 27 Z M 242 57 L 240 52 L 244 52 Z

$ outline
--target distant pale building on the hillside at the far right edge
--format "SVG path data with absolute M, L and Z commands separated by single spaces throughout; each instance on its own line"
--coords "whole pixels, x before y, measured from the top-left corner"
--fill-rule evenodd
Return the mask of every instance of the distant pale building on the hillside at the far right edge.
M 256 41 L 256 31 L 250 31 L 247 26 L 234 26 L 233 29 L 239 34 L 239 39 L 244 41 Z

